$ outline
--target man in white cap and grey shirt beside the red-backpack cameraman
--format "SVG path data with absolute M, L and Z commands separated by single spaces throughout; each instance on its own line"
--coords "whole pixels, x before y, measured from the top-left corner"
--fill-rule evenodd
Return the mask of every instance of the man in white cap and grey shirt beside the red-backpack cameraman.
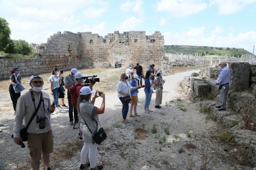
M 74 109 L 74 119 L 73 119 L 73 106 L 71 104 L 71 94 L 68 91 L 69 88 L 74 85 L 76 83 L 75 80 L 75 74 L 77 73 L 77 69 L 73 68 L 71 69 L 71 73 L 68 74 L 65 78 L 64 78 L 64 87 L 65 89 L 67 89 L 67 100 L 68 100 L 68 116 L 69 116 L 69 121 L 70 121 L 70 125 L 73 126 L 73 120 L 78 120 L 78 116 L 77 116 L 77 110 Z

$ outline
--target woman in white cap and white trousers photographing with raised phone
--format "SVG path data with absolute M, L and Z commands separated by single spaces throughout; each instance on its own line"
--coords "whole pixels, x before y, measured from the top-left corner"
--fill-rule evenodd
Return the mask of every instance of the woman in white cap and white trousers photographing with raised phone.
M 85 169 L 90 166 L 91 170 L 100 170 L 103 168 L 102 165 L 96 166 L 96 152 L 97 152 L 97 143 L 94 143 L 92 139 L 92 132 L 98 131 L 97 123 L 99 124 L 98 114 L 103 114 L 105 110 L 105 94 L 102 92 L 102 103 L 101 107 L 97 108 L 94 106 L 95 99 L 99 96 L 97 95 L 98 90 L 92 91 L 89 86 L 82 87 L 80 89 L 80 95 L 77 98 L 77 111 L 78 117 L 81 121 L 80 129 L 83 132 L 83 141 L 84 146 L 81 150 L 81 165 L 80 169 Z M 91 94 L 94 94 L 94 97 L 91 100 Z M 86 124 L 90 128 L 86 126 Z M 97 122 L 97 123 L 96 123 Z M 86 157 L 89 152 L 89 162 L 86 162 Z

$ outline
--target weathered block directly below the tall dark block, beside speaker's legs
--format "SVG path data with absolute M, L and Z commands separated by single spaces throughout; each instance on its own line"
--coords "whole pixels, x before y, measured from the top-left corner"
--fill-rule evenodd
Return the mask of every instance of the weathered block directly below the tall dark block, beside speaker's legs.
M 255 97 L 249 92 L 232 92 L 228 94 L 227 106 L 237 113 L 244 112 L 249 109 L 253 111 Z M 244 107 L 243 107 L 244 105 Z

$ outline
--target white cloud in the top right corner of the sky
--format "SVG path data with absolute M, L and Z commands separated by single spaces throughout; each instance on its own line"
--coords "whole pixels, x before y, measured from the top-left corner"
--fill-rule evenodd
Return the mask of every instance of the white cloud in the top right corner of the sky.
M 236 13 L 250 4 L 254 4 L 256 0 L 211 0 L 210 7 L 216 5 L 218 9 L 218 14 L 228 15 Z

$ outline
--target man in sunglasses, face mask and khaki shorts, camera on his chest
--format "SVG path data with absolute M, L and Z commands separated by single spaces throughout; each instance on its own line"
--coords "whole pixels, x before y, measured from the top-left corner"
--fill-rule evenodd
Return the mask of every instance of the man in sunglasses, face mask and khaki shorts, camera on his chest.
M 24 119 L 27 126 L 31 117 L 35 115 L 27 129 L 30 163 L 33 170 L 39 170 L 41 158 L 44 162 L 44 170 L 51 170 L 49 163 L 50 153 L 53 152 L 53 133 L 50 113 L 54 112 L 55 106 L 51 105 L 49 95 L 42 91 L 43 85 L 43 78 L 40 75 L 34 74 L 30 77 L 31 89 L 18 99 L 13 129 L 14 142 L 18 145 L 22 144 L 20 138 L 22 121 Z

